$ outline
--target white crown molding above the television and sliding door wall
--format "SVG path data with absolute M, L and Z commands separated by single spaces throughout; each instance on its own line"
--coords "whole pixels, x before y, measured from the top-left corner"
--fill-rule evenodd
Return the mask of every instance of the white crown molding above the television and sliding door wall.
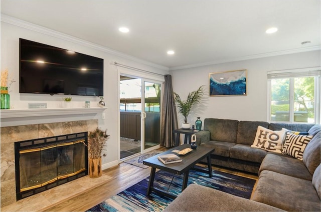
M 103 52 L 106 52 L 106 53 L 110 53 L 110 54 L 113 54 L 113 55 L 116 55 L 116 56 L 120 56 L 120 57 L 123 57 L 123 58 L 126 58 L 126 59 L 130 59 L 130 60 L 133 60 L 133 61 L 136 61 L 136 62 L 140 62 L 142 64 L 149 65 L 149 66 L 152 66 L 152 67 L 155 67 L 155 68 L 159 68 L 161 70 L 167 70 L 167 71 L 169 70 L 169 68 L 166 67 L 166 66 L 159 65 L 159 64 L 156 64 L 156 63 L 152 63 L 152 62 L 149 62 L 149 61 L 146 61 L 146 60 L 143 60 L 143 59 L 139 59 L 139 58 L 131 56 L 129 54 L 125 54 L 123 52 L 116 51 L 114 49 L 107 48 L 105 46 L 102 46 L 102 45 L 99 45 L 99 44 L 96 44 L 96 43 L 93 43 L 93 42 L 89 42 L 87 40 L 71 36 L 69 34 L 58 32 L 58 31 L 52 30 L 50 28 L 46 28 L 46 27 L 43 27 L 43 26 L 31 23 L 31 22 L 22 20 L 22 19 L 18 19 L 18 18 L 9 16 L 9 15 L 6 15 L 6 14 L 1 14 L 1 21 L 5 22 L 5 23 L 10 23 L 10 24 L 13 24 L 13 25 L 16 25 L 16 26 L 20 26 L 20 27 L 23 27 L 23 28 L 26 28 L 26 29 L 29 29 L 29 30 L 32 30 L 32 31 L 37 31 L 37 32 L 40 32 L 40 33 L 43 33 L 43 34 L 46 34 L 46 35 L 49 35 L 49 36 L 53 36 L 53 37 L 57 37 L 57 38 L 60 38 L 60 39 L 64 39 L 66 41 L 70 41 L 70 42 L 73 42 L 73 43 L 81 44 L 81 45 L 84 45 L 84 46 L 87 46 L 87 47 L 90 47 L 90 48 L 94 48 L 94 49 L 97 49 L 97 50 L 100 50 L 100 51 L 103 51 Z

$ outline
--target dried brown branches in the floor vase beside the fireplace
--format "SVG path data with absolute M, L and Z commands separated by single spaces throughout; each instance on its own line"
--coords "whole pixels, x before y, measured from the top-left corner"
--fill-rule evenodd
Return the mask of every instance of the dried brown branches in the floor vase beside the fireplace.
M 98 127 L 94 131 L 88 133 L 88 145 L 84 142 L 83 143 L 88 147 L 89 158 L 98 159 L 101 156 L 106 156 L 106 154 L 101 155 L 109 136 L 109 134 L 106 133 L 107 130 L 102 131 Z

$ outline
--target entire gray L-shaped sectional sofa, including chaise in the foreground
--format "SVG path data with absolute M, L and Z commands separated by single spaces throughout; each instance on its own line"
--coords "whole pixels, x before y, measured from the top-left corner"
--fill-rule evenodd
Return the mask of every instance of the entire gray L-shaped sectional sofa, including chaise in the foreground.
M 258 126 L 308 132 L 302 160 L 253 148 Z M 214 146 L 214 165 L 258 173 L 251 199 L 201 185 L 189 185 L 165 211 L 320 211 L 319 124 L 268 123 L 206 118 L 196 133 L 198 145 Z

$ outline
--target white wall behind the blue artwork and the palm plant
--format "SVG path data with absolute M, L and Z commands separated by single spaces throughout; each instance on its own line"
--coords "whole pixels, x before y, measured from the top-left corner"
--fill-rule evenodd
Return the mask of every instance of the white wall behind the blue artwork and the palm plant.
M 267 71 L 320 66 L 320 51 L 307 51 L 258 59 L 249 59 L 201 67 L 172 70 L 173 89 L 186 99 L 188 93 L 200 85 L 206 87 L 203 105 L 189 116 L 195 123 L 197 116 L 237 120 L 267 120 Z M 209 73 L 247 69 L 246 96 L 209 96 Z M 179 114 L 179 125 L 182 116 Z

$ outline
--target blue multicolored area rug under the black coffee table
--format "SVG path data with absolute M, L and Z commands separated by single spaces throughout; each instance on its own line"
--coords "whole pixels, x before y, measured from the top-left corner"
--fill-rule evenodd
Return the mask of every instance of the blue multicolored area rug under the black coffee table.
M 173 199 L 156 194 L 153 191 L 149 197 L 146 197 L 148 181 L 149 177 L 87 211 L 162 211 Z M 181 193 L 182 183 L 183 174 L 176 175 L 162 170 L 155 174 L 154 187 L 165 191 L 168 190 L 172 194 L 178 195 Z M 255 180 L 217 170 L 213 170 L 213 177 L 209 178 L 206 173 L 191 170 L 188 184 L 191 183 L 250 198 Z

